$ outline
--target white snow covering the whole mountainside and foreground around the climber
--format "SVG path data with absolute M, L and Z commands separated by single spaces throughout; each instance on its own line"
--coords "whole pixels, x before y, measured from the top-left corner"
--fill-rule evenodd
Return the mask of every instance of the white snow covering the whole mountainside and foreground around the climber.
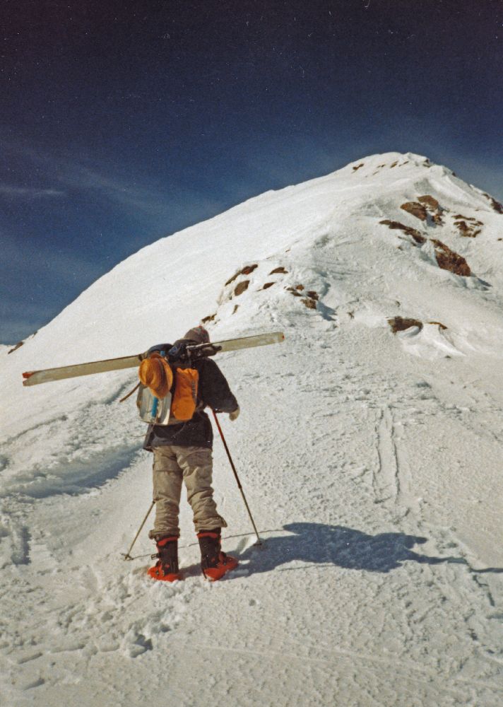
M 424 195 L 442 223 L 401 209 Z M 432 238 L 472 275 L 440 269 Z M 450 170 L 375 155 L 144 248 L 1 347 L 1 705 L 501 705 L 502 238 Z M 265 547 L 215 438 L 239 568 L 203 581 L 182 500 L 185 579 L 155 583 L 146 529 L 121 557 L 151 494 L 143 423 L 118 403 L 136 373 L 28 388 L 21 373 L 136 354 L 213 314 L 213 340 L 286 335 L 218 358 Z M 397 316 L 422 328 L 393 334 Z

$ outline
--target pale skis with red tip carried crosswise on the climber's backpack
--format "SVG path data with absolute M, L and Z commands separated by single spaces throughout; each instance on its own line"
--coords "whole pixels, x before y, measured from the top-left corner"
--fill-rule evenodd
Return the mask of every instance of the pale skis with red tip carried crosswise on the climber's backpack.
M 239 339 L 226 339 L 225 341 L 215 341 L 209 344 L 196 344 L 187 346 L 187 355 L 192 358 L 202 356 L 215 356 L 215 354 L 225 351 L 237 351 L 239 349 L 250 349 L 254 346 L 266 346 L 268 344 L 279 344 L 284 341 L 283 332 L 271 332 L 270 334 L 256 334 L 252 337 L 240 337 Z M 90 363 L 77 363 L 74 366 L 60 366 L 59 368 L 45 368 L 42 370 L 28 370 L 23 373 L 23 385 L 38 385 L 51 380 L 63 380 L 64 378 L 77 378 L 79 375 L 92 375 L 93 373 L 106 373 L 109 370 L 121 370 L 122 368 L 135 368 L 139 366 L 144 358 L 148 358 L 148 351 L 136 356 L 122 356 L 121 358 L 107 358 L 104 361 L 90 361 Z

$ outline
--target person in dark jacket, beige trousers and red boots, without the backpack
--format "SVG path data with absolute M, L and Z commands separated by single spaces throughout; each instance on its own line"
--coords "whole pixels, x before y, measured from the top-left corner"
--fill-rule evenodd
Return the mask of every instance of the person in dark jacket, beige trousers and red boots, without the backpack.
M 199 326 L 189 329 L 183 339 L 175 341 L 174 346 L 206 344 L 209 340 L 206 329 Z M 171 348 L 172 344 L 160 344 L 153 346 L 149 353 L 169 351 Z M 191 368 L 199 374 L 193 416 L 179 424 L 149 425 L 143 443 L 143 449 L 153 452 L 155 522 L 148 535 L 155 540 L 158 549 L 158 562 L 148 570 L 148 574 L 168 582 L 181 579 L 178 515 L 182 482 L 187 488 L 187 501 L 194 514 L 203 575 L 215 581 L 237 566 L 237 559 L 226 555 L 221 549 L 221 532 L 223 527 L 227 527 L 227 522 L 219 515 L 213 499 L 213 428 L 204 408 L 208 406 L 228 413 L 234 421 L 239 415 L 239 405 L 215 361 L 199 358 L 191 363 Z M 170 374 L 169 370 L 167 373 Z M 165 395 L 166 392 L 163 392 Z

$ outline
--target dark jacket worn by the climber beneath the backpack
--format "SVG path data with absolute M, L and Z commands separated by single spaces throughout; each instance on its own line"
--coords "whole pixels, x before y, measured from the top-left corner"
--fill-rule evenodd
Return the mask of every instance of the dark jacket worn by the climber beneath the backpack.
M 143 449 L 152 452 L 155 447 L 179 445 L 180 447 L 213 447 L 213 428 L 203 407 L 211 407 L 215 411 L 233 412 L 237 409 L 237 400 L 230 392 L 220 368 L 211 358 L 200 358 L 194 361 L 192 368 L 199 372 L 197 391 L 198 407 L 194 416 L 188 422 L 179 425 L 149 425 Z

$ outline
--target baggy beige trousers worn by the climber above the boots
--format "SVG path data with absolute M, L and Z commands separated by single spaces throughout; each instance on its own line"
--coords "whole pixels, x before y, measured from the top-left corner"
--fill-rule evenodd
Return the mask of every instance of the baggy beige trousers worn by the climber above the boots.
M 218 515 L 211 488 L 211 449 L 169 445 L 154 449 L 153 500 L 155 523 L 148 536 L 179 535 L 178 513 L 182 479 L 194 513 L 196 532 L 227 527 Z

